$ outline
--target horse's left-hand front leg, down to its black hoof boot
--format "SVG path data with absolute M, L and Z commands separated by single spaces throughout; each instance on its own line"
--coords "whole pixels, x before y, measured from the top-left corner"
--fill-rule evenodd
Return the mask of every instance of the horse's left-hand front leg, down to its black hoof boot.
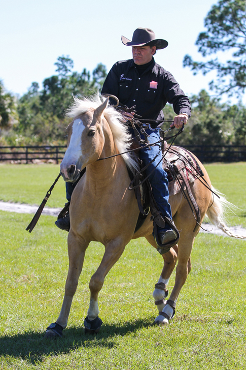
M 65 284 L 65 294 L 58 319 L 52 323 L 46 330 L 45 337 L 58 337 L 62 335 L 62 330 L 67 325 L 69 312 L 71 309 L 73 297 L 77 290 L 79 277 L 82 271 L 85 252 L 88 242 L 82 241 L 69 231 L 67 238 L 69 268 Z

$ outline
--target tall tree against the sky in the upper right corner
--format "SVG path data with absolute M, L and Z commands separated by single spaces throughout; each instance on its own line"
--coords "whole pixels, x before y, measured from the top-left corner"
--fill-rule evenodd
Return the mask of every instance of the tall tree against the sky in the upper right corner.
M 200 62 L 187 54 L 183 66 L 191 67 L 194 74 L 216 70 L 217 81 L 211 81 L 210 88 L 219 94 L 239 96 L 246 87 L 246 1 L 220 0 L 207 14 L 204 26 L 206 31 L 196 41 L 202 56 L 230 51 L 232 58 L 225 63 L 218 57 Z

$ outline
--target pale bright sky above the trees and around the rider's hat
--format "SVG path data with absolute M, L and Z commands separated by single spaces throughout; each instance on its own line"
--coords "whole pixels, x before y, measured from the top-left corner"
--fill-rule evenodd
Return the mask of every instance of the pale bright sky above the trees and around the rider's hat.
M 132 57 L 120 36 L 132 39 L 134 29 L 149 27 L 168 47 L 155 55 L 188 96 L 208 91 L 214 72 L 193 76 L 183 68 L 189 54 L 202 60 L 195 46 L 204 18 L 216 0 L 0 0 L 0 80 L 20 96 L 32 82 L 42 87 L 55 73 L 58 56 L 69 55 L 74 71 L 89 71 L 98 63 L 107 71 L 117 60 Z M 212 93 L 210 93 L 212 94 Z

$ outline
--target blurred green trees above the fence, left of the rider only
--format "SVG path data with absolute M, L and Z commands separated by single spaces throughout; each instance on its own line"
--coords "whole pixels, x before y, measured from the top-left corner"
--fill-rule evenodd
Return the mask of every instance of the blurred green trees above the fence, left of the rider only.
M 43 81 L 40 90 L 32 82 L 27 93 L 17 98 L 6 92 L 0 81 L 0 145 L 64 145 L 69 120 L 65 111 L 73 96 L 89 96 L 100 90 L 107 75 L 98 64 L 92 75 L 84 69 L 72 72 L 73 60 L 60 56 L 55 63 L 57 74 Z

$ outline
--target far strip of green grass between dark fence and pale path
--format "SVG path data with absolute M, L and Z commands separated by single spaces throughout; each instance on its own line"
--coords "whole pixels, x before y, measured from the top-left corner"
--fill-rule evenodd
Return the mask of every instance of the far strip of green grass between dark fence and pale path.
M 246 227 L 246 163 L 209 164 L 205 167 L 214 187 L 239 208 L 236 215 L 228 215 L 229 224 Z M 0 165 L 0 200 L 39 205 L 58 174 L 59 165 Z M 63 207 L 65 202 L 65 183 L 60 178 L 47 206 Z

